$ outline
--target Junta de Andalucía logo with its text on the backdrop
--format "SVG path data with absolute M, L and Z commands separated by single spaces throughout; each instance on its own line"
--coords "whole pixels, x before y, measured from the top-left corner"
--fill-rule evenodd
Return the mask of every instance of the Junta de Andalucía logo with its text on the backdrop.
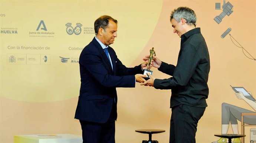
M 54 37 L 54 32 L 48 31 L 43 20 L 37 25 L 36 31 L 29 31 L 30 37 Z

